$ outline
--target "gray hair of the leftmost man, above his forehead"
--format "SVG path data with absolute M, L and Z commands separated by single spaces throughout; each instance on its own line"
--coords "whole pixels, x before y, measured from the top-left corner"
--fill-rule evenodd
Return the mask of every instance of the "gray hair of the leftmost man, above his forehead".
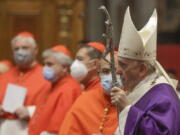
M 16 36 L 11 41 L 11 47 L 18 41 L 18 40 L 25 40 L 27 43 L 31 44 L 34 48 L 37 47 L 36 41 L 32 37 L 26 37 L 26 36 Z

